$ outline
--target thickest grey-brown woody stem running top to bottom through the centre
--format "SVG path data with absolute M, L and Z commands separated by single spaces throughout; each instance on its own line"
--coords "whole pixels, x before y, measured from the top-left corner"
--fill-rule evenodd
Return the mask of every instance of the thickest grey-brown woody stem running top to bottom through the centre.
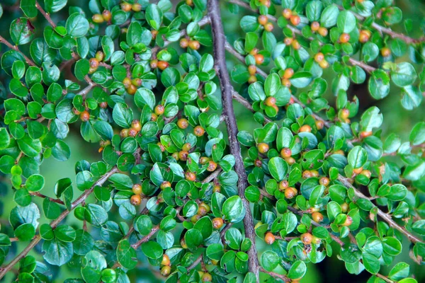
M 239 141 L 237 141 L 237 123 L 236 117 L 234 117 L 234 110 L 232 104 L 232 83 L 230 83 L 229 73 L 227 73 L 226 66 L 226 52 L 225 44 L 226 38 L 223 30 L 220 6 L 218 0 L 208 1 L 208 16 L 211 20 L 211 33 L 214 48 L 214 61 L 216 65 L 217 75 L 220 80 L 220 87 L 222 91 L 222 105 L 223 114 L 225 115 L 227 132 L 229 134 L 229 146 L 230 153 L 234 156 L 235 164 L 234 170 L 239 176 L 237 184 L 239 197 L 241 197 L 244 207 L 246 209 L 246 215 L 244 217 L 244 228 L 246 238 L 249 238 L 252 242 L 251 248 L 248 250 L 249 255 L 249 271 L 253 272 L 256 276 L 257 282 L 259 282 L 259 259 L 257 258 L 256 246 L 255 246 L 255 232 L 254 232 L 254 221 L 252 219 L 251 208 L 249 202 L 244 196 L 248 181 L 246 179 L 246 172 L 244 168 L 244 162 L 242 160 L 241 148 Z

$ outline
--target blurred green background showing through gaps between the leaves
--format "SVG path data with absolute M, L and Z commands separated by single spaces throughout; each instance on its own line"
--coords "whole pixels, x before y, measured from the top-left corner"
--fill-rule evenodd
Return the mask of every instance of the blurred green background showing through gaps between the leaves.
M 88 9 L 88 0 L 69 0 L 69 5 L 72 6 L 80 6 L 81 8 L 84 8 L 84 11 L 86 11 L 89 15 L 89 9 Z M 414 26 L 419 26 L 419 23 L 423 20 L 425 15 L 425 3 L 424 1 L 419 0 L 399 0 L 395 1 L 396 5 L 399 6 L 399 8 L 402 8 L 402 11 L 404 12 L 404 18 L 411 18 L 414 21 Z M 22 16 L 21 10 L 18 8 L 19 1 L 14 0 L 0 0 L 0 4 L 4 8 L 4 15 L 2 18 L 0 18 L 0 26 L 2 27 L 0 29 L 0 34 L 10 39 L 8 35 L 8 26 L 10 25 L 11 21 L 13 21 L 14 18 L 17 18 L 18 16 Z M 222 2 L 222 18 L 225 19 L 225 32 L 227 35 L 227 40 L 229 42 L 233 42 L 239 37 L 242 37 L 242 30 L 239 28 L 239 19 L 241 16 L 244 16 L 245 11 L 244 9 L 240 9 L 239 15 L 235 16 L 232 13 L 229 13 L 229 11 L 225 8 L 227 3 L 225 1 Z M 56 23 L 60 23 L 62 19 L 66 18 L 67 16 L 67 8 L 64 8 L 60 13 L 57 13 L 52 16 L 53 21 Z M 40 15 L 38 18 L 35 18 L 32 20 L 34 23 L 36 29 L 38 30 L 38 36 L 42 35 L 42 28 L 41 26 L 45 25 L 45 20 Z M 208 28 L 207 28 L 208 29 Z M 278 28 L 275 28 L 276 37 L 278 40 L 283 39 L 283 35 L 281 33 L 278 33 Z M 395 30 L 402 31 L 402 27 L 395 27 Z M 423 34 L 420 34 L 419 28 L 414 30 L 414 33 L 412 36 L 414 37 L 421 37 Z M 9 40 L 10 41 L 10 40 Z M 24 45 L 20 47 L 21 50 L 28 53 L 28 47 L 29 45 Z M 203 47 L 205 48 L 205 47 Z M 6 51 L 6 47 L 4 45 L 1 45 L 0 53 Z M 201 49 L 201 52 L 203 50 Z M 207 52 L 211 52 L 211 50 L 206 50 Z M 403 60 L 404 58 L 400 58 L 399 60 Z M 235 61 L 234 58 L 228 57 L 228 69 L 232 69 L 234 64 L 238 64 L 239 62 Z M 418 66 L 416 66 L 418 67 Z M 419 72 L 421 69 L 419 69 Z M 327 81 L 330 83 L 333 79 L 334 74 L 331 70 L 327 70 L 324 75 L 324 79 L 327 79 Z M 4 74 L 3 71 L 0 71 L 0 81 L 6 86 L 8 85 L 8 77 L 6 74 Z M 366 80 L 367 81 L 367 80 Z M 236 89 L 238 89 L 239 86 L 236 86 Z M 351 89 L 348 91 L 348 98 L 356 95 L 358 96 L 360 100 L 360 107 L 361 109 L 359 112 L 363 112 L 363 110 L 369 108 L 372 105 L 378 106 L 380 110 L 382 111 L 384 115 L 384 122 L 382 123 L 382 137 L 385 138 L 387 134 L 390 134 L 391 132 L 398 133 L 403 141 L 407 141 L 410 133 L 410 129 L 414 126 L 416 122 L 425 120 L 425 103 L 422 103 L 419 108 L 416 108 L 412 111 L 406 111 L 402 108 L 402 105 L 399 103 L 399 100 L 401 99 L 401 95 L 399 91 L 397 91 L 397 88 L 392 88 L 392 92 L 390 93 L 387 98 L 383 100 L 373 100 L 373 98 L 370 97 L 367 90 L 367 84 L 364 83 L 363 85 L 351 85 Z M 329 100 L 331 105 L 334 105 L 334 96 L 329 91 L 327 93 L 327 99 Z M 259 127 L 260 125 L 253 120 L 251 112 L 243 108 L 238 103 L 234 103 L 234 111 L 236 114 L 236 117 L 238 119 L 238 125 L 239 130 L 246 130 L 249 132 L 253 132 L 253 129 L 255 127 Z M 352 121 L 358 120 L 360 115 L 353 118 Z M 224 129 L 225 130 L 225 129 Z M 67 137 L 67 144 L 71 147 L 72 155 L 71 158 L 69 158 L 68 161 L 60 162 L 56 161 L 54 158 L 48 158 L 44 161 L 44 163 L 41 166 L 40 174 L 45 176 L 46 184 L 45 188 L 43 189 L 43 193 L 45 195 L 49 195 L 51 197 L 54 197 L 53 194 L 53 187 L 57 180 L 61 178 L 71 178 L 74 180 L 75 173 L 74 173 L 74 165 L 77 161 L 81 159 L 85 159 L 89 162 L 98 161 L 101 159 L 101 154 L 98 154 L 98 145 L 97 144 L 87 144 L 84 140 L 81 139 L 81 136 L 79 135 L 79 127 L 78 125 L 70 125 L 70 134 Z M 15 206 L 13 202 L 13 190 L 11 190 L 10 185 L 8 184 L 8 177 L 7 176 L 0 176 L 0 224 L 1 224 L 1 232 L 2 233 L 8 233 L 8 235 L 13 236 L 13 231 L 8 229 L 8 214 L 11 211 L 11 209 Z M 76 190 L 74 192 L 74 195 L 78 195 L 79 191 Z M 41 204 L 40 200 L 35 200 L 37 204 Z M 40 206 L 39 206 L 40 207 Z M 113 214 L 113 212 L 112 212 Z M 118 214 L 118 213 L 117 213 Z M 42 220 L 43 217 L 41 217 L 40 220 Z M 70 216 L 67 219 L 67 223 L 77 224 L 78 222 L 75 221 L 74 216 L 70 214 Z M 43 223 L 43 222 L 41 222 Z M 77 227 L 77 226 L 76 226 Z M 99 231 L 98 229 L 92 229 L 92 233 L 94 235 L 98 235 Z M 100 238 L 100 237 L 98 237 Z M 176 237 L 178 238 L 178 237 Z M 404 261 L 409 264 L 411 264 L 411 272 L 416 275 L 416 279 L 418 282 L 425 282 L 425 269 L 420 267 L 419 265 L 414 264 L 412 260 L 409 258 L 409 242 L 407 240 L 404 240 L 404 248 L 402 254 L 400 254 L 396 262 Z M 21 251 L 24 244 L 19 244 L 19 246 L 16 246 L 15 244 L 12 246 L 11 250 L 12 252 L 10 254 L 16 254 L 16 250 Z M 259 244 L 259 252 L 261 253 L 263 250 L 265 250 L 265 246 L 261 246 Z M 334 249 L 339 249 L 339 247 L 334 246 Z M 14 251 L 13 251 L 14 250 Z M 40 255 L 41 246 L 38 245 L 33 252 L 31 252 L 31 255 L 38 256 L 38 258 L 41 258 Z M 10 261 L 11 258 L 7 258 L 6 262 Z M 162 282 L 162 279 L 159 275 L 159 269 L 154 267 L 150 267 L 148 262 L 145 259 L 141 259 L 140 261 L 140 268 L 137 270 L 132 270 L 129 272 L 131 282 Z M 387 272 L 389 272 L 390 267 L 382 267 L 381 273 L 386 275 Z M 68 265 L 67 267 L 61 267 L 60 272 L 57 267 L 51 267 L 53 277 L 55 278 L 55 282 L 63 282 L 64 279 L 69 277 L 79 277 L 79 270 L 78 268 L 72 267 L 72 265 Z M 15 270 L 16 271 L 16 270 Z M 301 280 L 303 283 L 307 282 L 314 282 L 314 283 L 324 283 L 324 282 L 366 282 L 367 279 L 370 277 L 368 272 L 362 272 L 361 275 L 349 275 L 348 272 L 346 272 L 346 269 L 344 267 L 344 262 L 341 262 L 336 257 L 333 258 L 326 258 L 323 262 L 321 262 L 318 265 L 309 265 L 307 275 L 304 279 Z M 11 282 L 14 278 L 13 274 L 10 274 L 6 276 L 6 278 L 2 282 Z

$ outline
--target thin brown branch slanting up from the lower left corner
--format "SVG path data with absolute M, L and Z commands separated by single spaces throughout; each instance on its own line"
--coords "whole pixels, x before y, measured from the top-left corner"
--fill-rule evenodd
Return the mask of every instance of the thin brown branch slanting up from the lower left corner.
M 108 180 L 109 177 L 111 177 L 111 175 L 113 175 L 115 172 L 118 171 L 118 168 L 113 167 L 110 171 L 108 171 L 105 175 L 103 175 L 99 180 L 96 181 L 96 183 L 94 183 L 94 185 L 91 186 L 91 188 L 89 190 L 86 190 L 82 195 L 79 196 L 79 198 L 77 198 L 77 200 L 75 200 L 74 202 L 72 202 L 72 208 L 71 210 L 67 210 L 65 209 L 64 212 L 62 212 L 60 214 L 60 216 L 57 217 L 57 219 L 55 219 L 54 221 L 52 221 L 50 223 L 50 227 L 52 227 L 52 229 L 55 229 L 57 227 L 58 224 L 60 224 L 60 222 L 69 214 L 72 212 L 72 210 L 77 207 L 79 204 L 81 204 L 81 202 L 84 202 L 84 200 L 86 200 L 87 197 L 89 197 L 89 195 L 91 195 L 91 193 L 94 191 L 94 188 L 96 186 L 101 186 L 103 185 L 103 183 L 106 182 L 106 180 Z M 30 252 L 30 250 L 32 250 L 35 245 L 38 244 L 38 242 L 40 242 L 41 237 L 40 235 L 37 235 L 33 238 L 33 241 L 31 241 L 28 246 L 26 246 L 26 248 L 23 249 L 23 251 L 16 256 L 16 258 L 14 258 L 11 262 L 8 263 L 8 265 L 6 265 L 4 268 L 2 268 L 0 270 L 0 279 L 4 277 L 4 275 L 6 275 L 6 273 L 11 270 L 11 268 L 16 265 L 16 263 L 19 262 L 19 260 L 21 260 L 22 258 L 25 258 L 26 255 Z

